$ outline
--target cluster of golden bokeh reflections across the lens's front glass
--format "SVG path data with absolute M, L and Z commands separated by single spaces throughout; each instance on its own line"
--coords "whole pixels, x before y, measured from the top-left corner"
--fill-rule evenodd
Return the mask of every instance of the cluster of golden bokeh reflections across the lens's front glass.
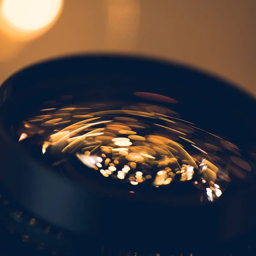
M 236 145 L 183 120 L 159 100 L 134 95 L 135 101 L 122 103 L 65 105 L 72 96 L 45 102 L 18 126 L 17 140 L 66 177 L 125 184 L 135 194 L 137 187 L 167 189 L 170 196 L 194 189 L 214 201 L 228 183 L 247 177 L 251 166 Z

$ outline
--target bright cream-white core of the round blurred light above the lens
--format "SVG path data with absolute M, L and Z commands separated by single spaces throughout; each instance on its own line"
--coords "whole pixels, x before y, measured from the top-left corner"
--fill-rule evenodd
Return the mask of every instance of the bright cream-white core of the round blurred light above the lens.
M 13 28 L 34 32 L 49 25 L 58 15 L 62 0 L 3 0 L 1 16 Z

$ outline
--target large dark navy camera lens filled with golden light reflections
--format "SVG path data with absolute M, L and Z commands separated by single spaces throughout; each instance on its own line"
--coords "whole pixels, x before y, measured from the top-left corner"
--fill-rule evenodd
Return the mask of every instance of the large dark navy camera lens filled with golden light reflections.
M 118 56 L 38 64 L 1 95 L 1 215 L 12 243 L 71 255 L 252 253 L 250 96 Z

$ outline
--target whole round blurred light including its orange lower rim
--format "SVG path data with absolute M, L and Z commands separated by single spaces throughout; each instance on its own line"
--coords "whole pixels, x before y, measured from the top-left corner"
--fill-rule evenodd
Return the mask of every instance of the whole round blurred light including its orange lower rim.
M 3 0 L 1 29 L 18 41 L 38 37 L 58 19 L 63 3 L 63 0 Z

